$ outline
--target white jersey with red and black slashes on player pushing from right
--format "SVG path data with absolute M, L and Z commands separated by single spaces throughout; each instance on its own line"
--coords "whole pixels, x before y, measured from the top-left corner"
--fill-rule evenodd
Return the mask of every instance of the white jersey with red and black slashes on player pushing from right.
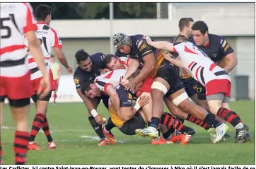
M 209 81 L 216 79 L 226 79 L 231 82 L 231 77 L 228 73 L 211 61 L 204 52 L 191 42 L 182 42 L 175 45 L 173 50 L 178 52 L 188 73 L 203 86 Z

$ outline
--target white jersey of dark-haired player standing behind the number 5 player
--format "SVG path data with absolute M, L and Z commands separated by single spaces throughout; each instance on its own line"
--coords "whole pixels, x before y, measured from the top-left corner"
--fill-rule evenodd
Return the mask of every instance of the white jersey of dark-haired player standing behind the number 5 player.
M 37 28 L 38 29 L 35 31 L 35 35 L 40 42 L 42 54 L 45 57 L 45 65 L 47 71 L 49 72 L 52 47 L 62 48 L 62 41 L 59 39 L 57 32 L 46 23 L 37 23 Z M 28 41 L 26 38 L 25 45 L 28 47 Z M 35 63 L 35 60 L 31 54 L 28 56 L 27 62 L 31 71 L 31 80 L 42 77 L 42 73 L 39 71 L 37 64 Z

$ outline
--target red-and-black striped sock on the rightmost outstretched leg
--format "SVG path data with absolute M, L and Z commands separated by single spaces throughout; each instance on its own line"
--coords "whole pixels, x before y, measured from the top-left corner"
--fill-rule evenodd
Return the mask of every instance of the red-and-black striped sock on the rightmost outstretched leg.
M 217 116 L 221 117 L 226 122 L 232 124 L 232 126 L 235 127 L 235 129 L 243 128 L 243 123 L 239 115 L 233 112 L 232 110 L 229 110 L 225 107 L 220 107 L 217 112 Z

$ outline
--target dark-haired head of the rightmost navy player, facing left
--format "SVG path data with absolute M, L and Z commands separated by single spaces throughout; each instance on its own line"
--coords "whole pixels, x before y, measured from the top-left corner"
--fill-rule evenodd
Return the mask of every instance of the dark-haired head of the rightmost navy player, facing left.
M 208 26 L 204 21 L 197 21 L 192 25 L 192 35 L 197 46 L 205 45 L 208 40 Z

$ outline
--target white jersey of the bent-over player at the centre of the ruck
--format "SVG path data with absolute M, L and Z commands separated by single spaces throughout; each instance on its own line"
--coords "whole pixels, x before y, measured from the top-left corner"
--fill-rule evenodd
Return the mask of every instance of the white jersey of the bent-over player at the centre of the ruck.
M 107 86 L 112 85 L 114 88 L 116 88 L 121 83 L 122 78 L 126 72 L 126 69 L 108 71 L 105 74 L 97 76 L 94 81 L 96 86 L 100 88 L 100 91 L 107 93 L 105 90 Z

